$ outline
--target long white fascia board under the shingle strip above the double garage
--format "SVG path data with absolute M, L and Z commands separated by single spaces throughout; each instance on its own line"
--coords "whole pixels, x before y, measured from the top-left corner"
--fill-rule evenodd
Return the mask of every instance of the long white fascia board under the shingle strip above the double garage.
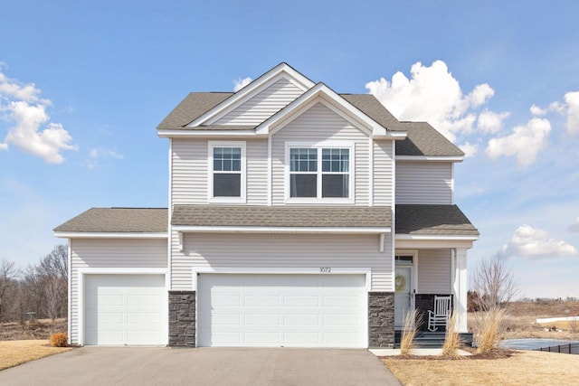
M 391 227 L 240 227 L 174 225 L 173 231 L 183 233 L 339 233 L 381 234 L 390 233 Z

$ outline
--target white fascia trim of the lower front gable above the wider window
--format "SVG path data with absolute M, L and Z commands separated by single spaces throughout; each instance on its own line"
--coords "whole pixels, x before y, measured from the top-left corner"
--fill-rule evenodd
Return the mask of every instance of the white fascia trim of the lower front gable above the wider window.
M 285 108 L 282 108 L 278 113 L 264 120 L 258 127 L 255 128 L 255 131 L 262 135 L 273 134 L 274 130 L 271 130 L 273 125 L 283 121 L 285 118 L 288 118 L 296 110 L 303 108 L 304 105 L 307 105 L 309 102 L 317 98 L 324 99 L 328 103 L 337 106 L 339 110 L 345 112 L 349 117 L 351 117 L 348 120 L 355 120 L 358 123 L 358 126 L 361 124 L 362 127 L 370 129 L 373 136 L 386 135 L 386 129 L 384 127 L 380 126 L 374 119 L 369 118 L 362 111 L 360 111 L 359 108 L 356 108 L 346 99 L 340 97 L 336 91 L 330 89 L 321 82 L 311 89 L 308 89 L 308 91 L 300 95 L 299 98 L 295 99 L 293 102 L 289 103 L 289 105 Z M 280 125 L 280 127 L 276 127 L 275 131 L 279 130 L 281 127 L 282 125 Z

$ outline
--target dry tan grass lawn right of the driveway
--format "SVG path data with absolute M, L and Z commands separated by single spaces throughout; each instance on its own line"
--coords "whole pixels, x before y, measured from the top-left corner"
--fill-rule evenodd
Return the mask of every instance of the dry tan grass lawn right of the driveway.
M 433 359 L 382 358 L 406 386 L 418 385 L 545 385 L 579 380 L 579 355 L 517 351 L 508 358 Z

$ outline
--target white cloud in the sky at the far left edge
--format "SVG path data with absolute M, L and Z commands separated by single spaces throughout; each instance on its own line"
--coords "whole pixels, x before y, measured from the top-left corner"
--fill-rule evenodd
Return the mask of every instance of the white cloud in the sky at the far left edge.
M 50 122 L 46 108 L 51 101 L 40 98 L 40 94 L 41 90 L 33 84 L 9 80 L 0 71 L 0 113 L 5 121 L 14 123 L 0 149 L 14 145 L 47 163 L 61 164 L 64 161 L 61 151 L 76 150 L 77 146 L 71 145 L 72 137 L 62 124 Z

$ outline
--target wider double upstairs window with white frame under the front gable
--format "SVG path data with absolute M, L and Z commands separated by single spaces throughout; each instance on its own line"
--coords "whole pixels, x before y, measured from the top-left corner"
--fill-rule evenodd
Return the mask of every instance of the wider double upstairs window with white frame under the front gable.
M 350 148 L 289 148 L 289 198 L 350 198 Z

